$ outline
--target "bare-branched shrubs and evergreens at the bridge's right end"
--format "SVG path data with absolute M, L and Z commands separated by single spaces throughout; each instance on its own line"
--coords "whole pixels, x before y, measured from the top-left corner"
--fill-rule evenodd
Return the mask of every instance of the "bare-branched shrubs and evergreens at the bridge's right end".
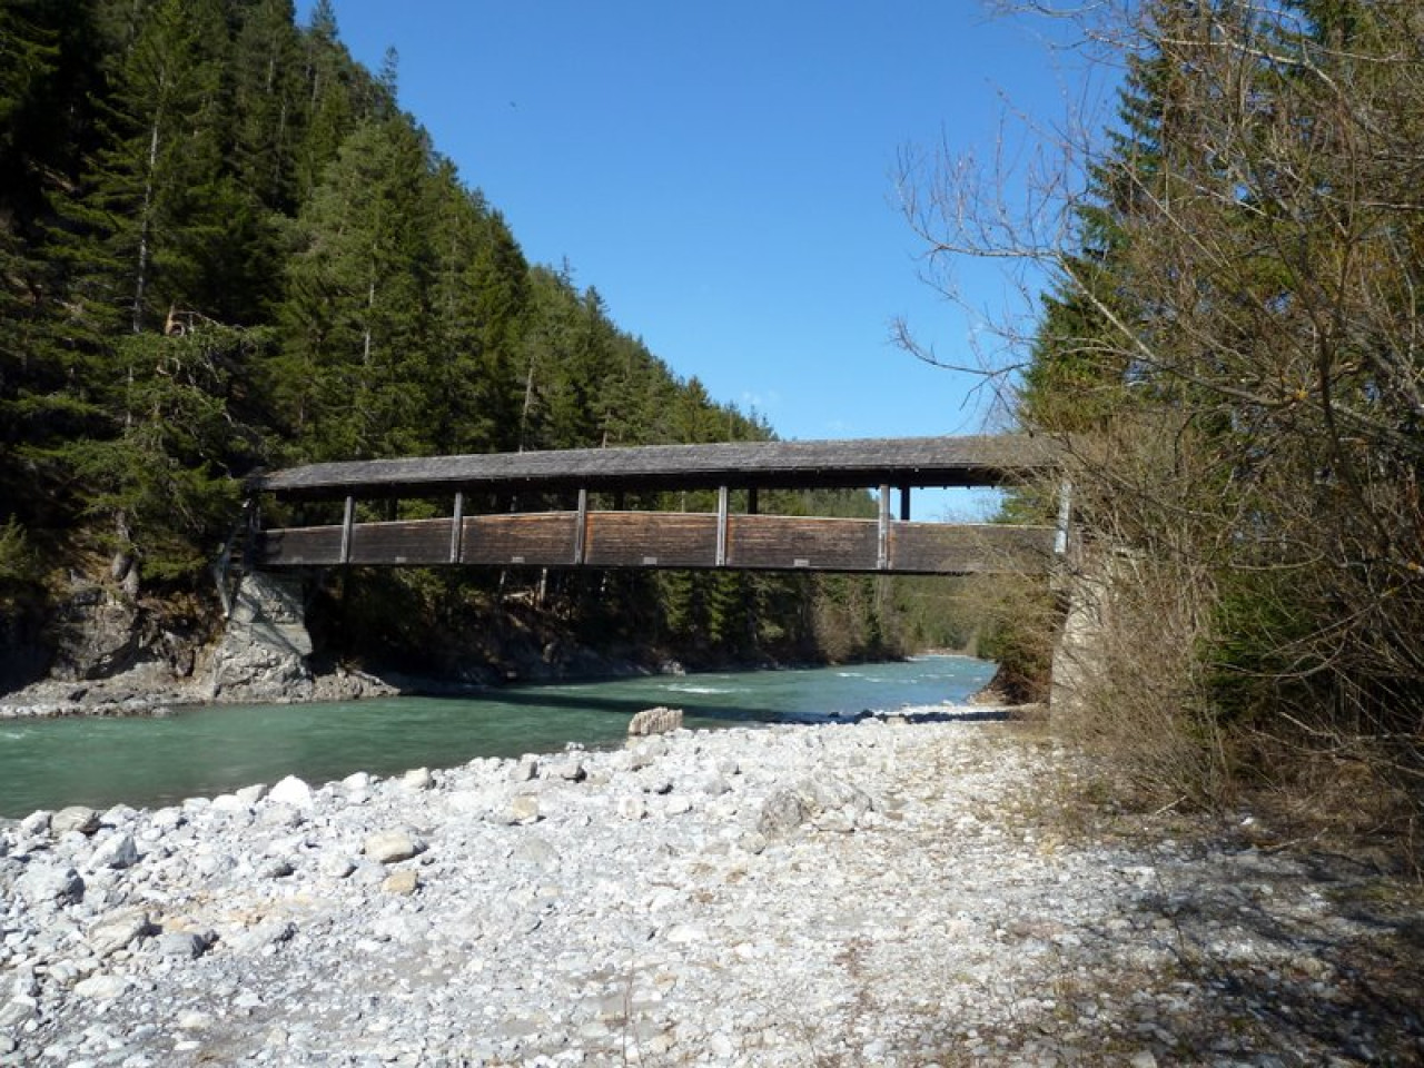
M 1017 413 L 1072 441 L 1108 590 L 1079 736 L 1162 803 L 1265 785 L 1417 847 L 1424 6 L 1071 7 L 1115 120 L 1027 212 L 946 167 L 916 221 L 1052 281 Z

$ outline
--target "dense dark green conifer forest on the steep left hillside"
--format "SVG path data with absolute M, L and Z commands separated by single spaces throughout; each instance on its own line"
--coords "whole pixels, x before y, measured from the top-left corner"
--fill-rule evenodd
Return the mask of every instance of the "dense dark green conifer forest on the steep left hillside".
M 9 0 L 0 41 L 9 644 L 43 644 L 75 581 L 202 631 L 263 466 L 770 436 L 528 263 L 330 3 L 298 27 L 290 0 Z M 896 629 L 863 581 L 691 574 L 357 574 L 313 625 L 332 656 L 449 666 L 501 601 L 534 601 L 538 638 L 708 656 L 876 654 Z

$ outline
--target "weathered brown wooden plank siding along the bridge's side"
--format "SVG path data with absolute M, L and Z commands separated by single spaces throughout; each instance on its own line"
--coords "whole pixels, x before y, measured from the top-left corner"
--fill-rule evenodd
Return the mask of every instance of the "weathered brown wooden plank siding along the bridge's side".
M 590 511 L 582 518 L 582 567 L 716 567 L 716 514 Z M 357 523 L 347 562 L 447 565 L 453 523 Z M 577 511 L 467 515 L 459 562 L 578 567 L 578 523 Z M 891 521 L 881 568 L 877 520 L 738 514 L 726 523 L 725 567 L 736 570 L 1047 574 L 1055 560 L 1051 527 Z M 268 530 L 255 547 L 255 562 L 268 568 L 333 567 L 343 562 L 340 551 L 340 525 Z

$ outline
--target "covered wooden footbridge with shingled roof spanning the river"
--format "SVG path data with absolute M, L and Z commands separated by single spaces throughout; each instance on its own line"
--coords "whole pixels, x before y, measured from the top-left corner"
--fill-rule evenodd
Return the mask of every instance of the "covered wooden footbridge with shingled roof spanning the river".
M 259 568 L 467 565 L 738 568 L 897 574 L 1047 572 L 1059 527 L 911 523 L 921 487 L 1008 486 L 1049 474 L 1052 441 L 1028 436 L 742 441 L 323 463 L 252 481 L 253 497 L 333 521 L 263 528 Z M 760 514 L 762 490 L 879 491 L 876 518 Z M 629 496 L 715 491 L 715 511 L 629 510 Z M 899 517 L 891 514 L 899 491 Z M 396 518 L 396 501 L 444 501 L 436 518 Z M 360 504 L 386 501 L 380 520 Z M 521 510 L 534 501 L 558 507 Z M 733 501 L 739 507 L 733 508 Z M 340 521 L 330 503 L 340 504 Z M 480 507 L 474 507 L 478 504 Z M 608 506 L 608 507 L 595 507 Z M 289 508 L 290 511 L 292 508 Z M 380 513 L 380 508 L 375 510 Z M 481 514 L 474 514 L 481 513 Z M 253 515 L 259 513 L 253 510 Z

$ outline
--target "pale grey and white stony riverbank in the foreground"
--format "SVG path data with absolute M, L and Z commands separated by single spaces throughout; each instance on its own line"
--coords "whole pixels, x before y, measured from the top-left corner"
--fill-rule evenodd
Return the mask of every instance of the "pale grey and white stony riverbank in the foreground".
M 0 1065 L 1421 1061 L 1404 890 L 1084 782 L 940 709 L 36 813 Z

